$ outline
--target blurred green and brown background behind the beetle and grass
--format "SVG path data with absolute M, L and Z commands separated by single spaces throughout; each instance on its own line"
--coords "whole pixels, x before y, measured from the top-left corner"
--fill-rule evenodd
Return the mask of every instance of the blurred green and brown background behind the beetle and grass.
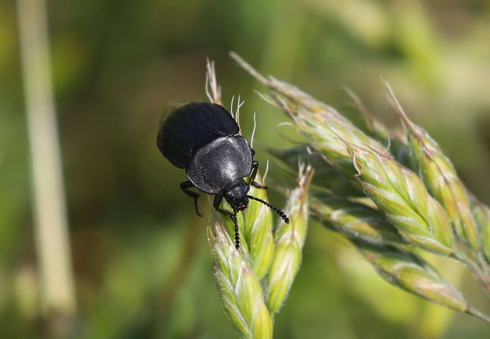
M 349 86 L 390 125 L 389 81 L 409 116 L 490 202 L 490 2 L 485 0 L 48 1 L 78 315 L 74 338 L 235 338 L 213 277 L 205 220 L 181 193 L 182 170 L 158 151 L 171 99 L 206 100 L 205 59 L 223 101 L 241 95 L 242 130 L 291 145 L 287 118 L 229 57 L 234 50 L 337 107 Z M 0 338 L 45 338 L 30 197 L 15 1 L 0 2 Z M 288 135 L 289 127 L 279 132 Z M 259 147 L 256 147 L 259 148 Z M 265 164 L 268 156 L 257 152 Z M 270 163 L 270 176 L 284 173 Z M 284 198 L 270 193 L 280 205 Z M 204 199 L 203 202 L 206 202 Z M 429 257 L 490 312 L 462 268 Z M 49 323 L 49 321 L 48 321 Z M 56 332 L 56 331 L 54 331 Z M 489 338 L 490 327 L 382 281 L 356 251 L 312 222 L 274 338 Z

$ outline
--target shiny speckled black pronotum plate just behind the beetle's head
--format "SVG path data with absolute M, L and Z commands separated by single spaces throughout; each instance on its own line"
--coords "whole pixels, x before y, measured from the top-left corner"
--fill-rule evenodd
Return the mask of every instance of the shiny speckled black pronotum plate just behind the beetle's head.
M 252 160 L 244 137 L 221 137 L 199 148 L 185 173 L 202 192 L 218 194 L 235 180 L 250 175 Z

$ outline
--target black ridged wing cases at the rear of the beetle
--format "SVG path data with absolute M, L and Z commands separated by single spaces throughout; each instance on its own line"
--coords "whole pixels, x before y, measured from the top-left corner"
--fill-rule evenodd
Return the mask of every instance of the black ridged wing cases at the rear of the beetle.
M 237 122 L 221 105 L 192 102 L 166 117 L 157 146 L 172 165 L 185 169 L 199 148 L 239 131 Z

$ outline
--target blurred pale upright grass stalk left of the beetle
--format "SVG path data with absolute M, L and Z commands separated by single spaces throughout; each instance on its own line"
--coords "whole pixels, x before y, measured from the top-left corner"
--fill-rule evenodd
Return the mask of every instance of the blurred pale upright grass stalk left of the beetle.
M 17 0 L 32 200 L 44 313 L 74 315 L 76 301 L 44 0 Z

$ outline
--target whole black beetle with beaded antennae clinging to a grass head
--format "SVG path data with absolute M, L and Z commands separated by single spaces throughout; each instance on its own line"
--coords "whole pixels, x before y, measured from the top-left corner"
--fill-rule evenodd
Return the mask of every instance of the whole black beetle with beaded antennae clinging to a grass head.
M 199 217 L 199 194 L 214 195 L 213 207 L 231 217 L 235 224 L 235 247 L 240 248 L 236 215 L 248 207 L 248 199 L 259 201 L 274 210 L 286 223 L 289 218 L 267 201 L 248 195 L 250 185 L 267 189 L 255 181 L 259 162 L 255 151 L 241 135 L 238 123 L 221 105 L 191 102 L 172 111 L 163 121 L 157 137 L 158 149 L 172 165 L 185 169 L 189 180 L 180 183 L 182 191 L 194 198 Z M 247 183 L 244 178 L 250 176 Z M 233 212 L 220 208 L 225 199 Z

